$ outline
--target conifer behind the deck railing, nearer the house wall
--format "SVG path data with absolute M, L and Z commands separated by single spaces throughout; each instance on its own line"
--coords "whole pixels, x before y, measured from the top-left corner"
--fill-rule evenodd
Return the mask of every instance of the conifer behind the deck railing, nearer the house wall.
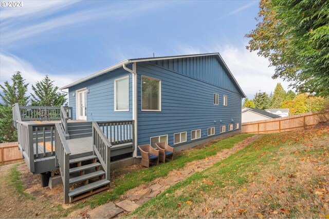
M 58 87 L 53 85 L 48 75 L 35 84 L 32 85 L 34 94 L 31 93 L 32 106 L 53 106 L 59 107 L 66 102 L 66 94 L 60 93 Z

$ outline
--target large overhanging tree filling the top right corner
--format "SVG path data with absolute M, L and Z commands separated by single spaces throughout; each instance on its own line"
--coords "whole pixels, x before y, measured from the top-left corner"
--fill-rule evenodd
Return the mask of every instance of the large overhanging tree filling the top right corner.
M 272 78 L 299 92 L 329 96 L 329 4 L 324 0 L 261 0 L 247 49 L 269 59 Z

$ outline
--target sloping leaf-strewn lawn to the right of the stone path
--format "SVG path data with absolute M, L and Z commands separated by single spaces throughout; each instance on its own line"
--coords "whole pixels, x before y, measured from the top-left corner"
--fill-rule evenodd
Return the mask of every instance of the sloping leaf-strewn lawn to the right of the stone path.
M 328 141 L 329 129 L 264 135 L 126 217 L 329 217 Z

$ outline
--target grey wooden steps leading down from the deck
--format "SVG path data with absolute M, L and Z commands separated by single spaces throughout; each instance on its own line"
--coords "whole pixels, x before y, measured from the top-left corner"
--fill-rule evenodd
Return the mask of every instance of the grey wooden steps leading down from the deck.
M 69 160 L 69 185 L 74 186 L 68 192 L 69 202 L 93 195 L 109 188 L 109 181 L 105 179 L 105 172 L 97 156 L 90 155 Z

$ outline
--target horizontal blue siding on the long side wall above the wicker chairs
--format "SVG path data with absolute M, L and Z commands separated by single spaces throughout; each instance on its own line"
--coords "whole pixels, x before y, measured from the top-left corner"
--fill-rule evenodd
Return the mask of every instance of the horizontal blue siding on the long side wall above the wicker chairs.
M 220 68 L 214 66 L 213 69 Z M 225 133 L 228 132 L 229 124 L 239 123 L 239 129 L 241 128 L 242 94 L 237 88 L 229 90 L 214 85 L 230 84 L 222 82 L 223 79 L 217 77 L 218 75 L 216 76 L 218 82 L 205 82 L 213 77 L 211 74 L 218 73 L 217 71 L 211 73 L 210 70 L 209 67 L 199 70 L 208 75 L 202 76 L 204 81 L 201 81 L 162 65 L 150 62 L 137 64 L 138 145 L 150 144 L 152 136 L 168 134 L 169 145 L 175 147 L 191 142 L 191 130 L 201 129 L 201 139 L 203 139 L 208 137 L 210 127 L 215 127 L 215 135 L 220 134 L 220 126 L 223 125 L 226 126 Z M 141 111 L 141 75 L 161 80 L 161 112 Z M 223 78 L 230 80 L 229 77 Z M 213 104 L 214 93 L 219 94 L 218 105 Z M 223 95 L 228 96 L 227 106 L 223 106 Z M 233 123 L 231 119 L 234 120 Z M 187 142 L 174 145 L 174 133 L 178 132 L 187 132 Z

